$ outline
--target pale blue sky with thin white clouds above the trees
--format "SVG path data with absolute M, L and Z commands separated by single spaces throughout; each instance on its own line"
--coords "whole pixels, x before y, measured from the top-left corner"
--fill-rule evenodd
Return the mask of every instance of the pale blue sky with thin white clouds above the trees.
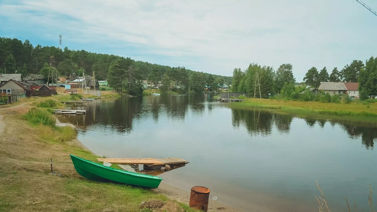
M 376 56 L 376 25 L 356 0 L 0 0 L 0 37 L 226 76 L 291 63 L 299 82 Z

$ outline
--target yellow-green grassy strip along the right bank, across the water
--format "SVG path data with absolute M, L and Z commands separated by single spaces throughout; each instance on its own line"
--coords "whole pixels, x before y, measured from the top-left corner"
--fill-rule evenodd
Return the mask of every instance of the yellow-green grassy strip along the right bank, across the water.
M 346 104 L 248 98 L 244 102 L 230 103 L 229 106 L 234 109 L 265 109 L 300 117 L 377 125 L 377 103 L 352 102 Z

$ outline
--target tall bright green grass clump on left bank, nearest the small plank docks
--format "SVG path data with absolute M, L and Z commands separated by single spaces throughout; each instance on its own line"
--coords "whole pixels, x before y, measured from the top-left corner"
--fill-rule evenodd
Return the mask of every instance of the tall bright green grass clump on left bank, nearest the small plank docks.
M 43 124 L 52 128 L 55 127 L 56 123 L 54 115 L 46 110 L 38 108 L 30 109 L 25 115 L 23 115 L 23 118 L 34 125 Z

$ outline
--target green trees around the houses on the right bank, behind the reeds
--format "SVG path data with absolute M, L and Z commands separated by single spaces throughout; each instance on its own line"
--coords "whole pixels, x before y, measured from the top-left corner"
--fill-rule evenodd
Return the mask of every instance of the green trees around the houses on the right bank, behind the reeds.
M 258 89 L 256 81 L 256 73 L 258 73 L 262 98 L 269 98 L 268 94 L 279 94 L 285 98 L 304 98 L 312 101 L 315 98 L 311 94 L 307 93 L 305 97 L 300 97 L 299 94 L 307 89 L 306 86 L 317 88 L 320 82 L 358 82 L 361 99 L 377 95 L 377 58 L 375 57 L 366 60 L 365 65 L 361 60 L 353 60 L 340 71 L 335 67 L 331 74 L 328 74 L 326 67 L 318 71 L 313 66 L 305 74 L 303 83 L 296 83 L 292 68 L 293 66 L 289 63 L 280 65 L 276 71 L 271 66 L 261 66 L 255 63 L 251 63 L 244 71 L 236 68 L 233 70 L 230 91 L 254 94 L 254 89 Z M 297 86 L 298 84 L 301 86 Z M 319 101 L 330 101 L 328 96 L 322 98 Z

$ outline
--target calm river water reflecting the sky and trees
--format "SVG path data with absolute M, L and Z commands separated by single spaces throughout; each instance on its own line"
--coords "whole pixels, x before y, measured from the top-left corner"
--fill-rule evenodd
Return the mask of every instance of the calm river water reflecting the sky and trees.
M 235 110 L 210 95 L 100 99 L 86 110 L 59 119 L 78 121 L 78 138 L 96 154 L 184 158 L 165 183 L 209 187 L 245 211 L 317 211 L 316 180 L 333 211 L 346 210 L 345 195 L 367 208 L 368 185 L 377 186 L 374 127 Z

